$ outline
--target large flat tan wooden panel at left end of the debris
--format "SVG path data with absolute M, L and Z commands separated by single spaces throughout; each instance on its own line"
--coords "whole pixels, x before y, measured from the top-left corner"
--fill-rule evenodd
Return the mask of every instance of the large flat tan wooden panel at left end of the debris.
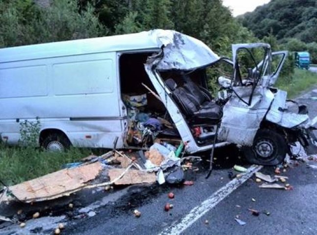
M 102 169 L 101 163 L 62 169 L 51 174 L 9 187 L 21 201 L 44 201 L 58 198 L 84 187 L 95 179 Z

